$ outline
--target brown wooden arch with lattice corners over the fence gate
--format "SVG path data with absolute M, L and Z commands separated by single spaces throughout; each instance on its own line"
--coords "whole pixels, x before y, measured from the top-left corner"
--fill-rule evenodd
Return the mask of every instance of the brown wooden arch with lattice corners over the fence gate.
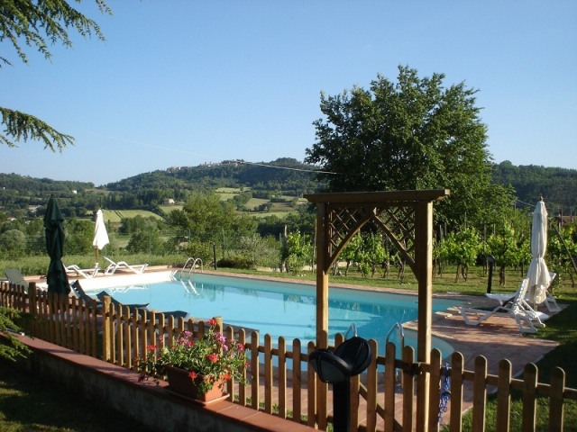
M 312 193 L 316 203 L 316 347 L 328 346 L 328 275 L 343 247 L 367 222 L 375 222 L 405 258 L 418 283 L 417 361 L 428 363 L 431 351 L 433 293 L 433 202 L 448 189 L 424 191 Z M 426 419 L 428 376 L 417 383 L 417 418 Z M 319 401 L 327 387 L 318 384 Z M 324 419 L 326 403 L 317 405 Z M 426 424 L 418 421 L 417 424 Z M 319 425 L 323 427 L 325 425 Z

